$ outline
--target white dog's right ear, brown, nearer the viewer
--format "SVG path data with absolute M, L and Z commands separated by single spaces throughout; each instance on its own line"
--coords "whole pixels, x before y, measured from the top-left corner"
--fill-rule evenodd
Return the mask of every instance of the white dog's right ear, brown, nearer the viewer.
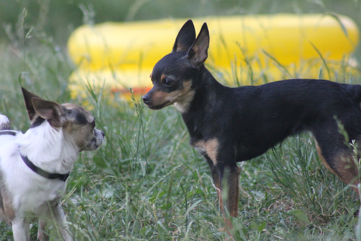
M 62 126 L 62 107 L 60 104 L 39 98 L 31 98 L 36 114 L 49 120 L 52 126 Z

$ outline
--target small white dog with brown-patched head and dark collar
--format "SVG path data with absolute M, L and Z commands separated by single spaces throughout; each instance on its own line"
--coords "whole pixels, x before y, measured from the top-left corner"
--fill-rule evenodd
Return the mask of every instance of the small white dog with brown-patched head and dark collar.
M 0 216 L 12 224 L 15 241 L 29 241 L 28 216 L 39 218 L 38 240 L 47 240 L 44 228 L 53 220 L 62 239 L 71 241 L 59 199 L 79 152 L 96 150 L 104 133 L 83 107 L 22 92 L 30 129 L 10 130 L 0 115 Z

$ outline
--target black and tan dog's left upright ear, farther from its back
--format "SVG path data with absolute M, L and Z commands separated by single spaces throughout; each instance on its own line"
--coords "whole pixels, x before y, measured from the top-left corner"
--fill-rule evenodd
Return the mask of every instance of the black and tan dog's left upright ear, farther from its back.
M 188 20 L 179 30 L 172 52 L 188 51 L 195 39 L 196 30 L 192 20 Z

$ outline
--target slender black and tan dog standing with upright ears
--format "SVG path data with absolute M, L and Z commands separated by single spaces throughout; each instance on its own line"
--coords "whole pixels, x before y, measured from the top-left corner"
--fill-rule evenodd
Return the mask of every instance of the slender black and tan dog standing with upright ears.
M 173 51 L 154 66 L 153 88 L 143 96 L 151 109 L 174 104 L 190 133 L 190 144 L 207 160 L 223 214 L 238 214 L 237 162 L 263 154 L 289 135 L 310 131 L 323 164 L 347 184 L 358 168 L 348 142 L 361 141 L 361 86 L 317 79 L 290 79 L 260 86 L 221 85 L 204 66 L 209 32 L 196 38 L 188 20 Z M 338 121 L 348 134 L 340 133 Z M 219 190 L 227 187 L 228 195 Z M 354 189 L 358 191 L 355 187 Z M 230 219 L 225 218 L 230 229 Z

